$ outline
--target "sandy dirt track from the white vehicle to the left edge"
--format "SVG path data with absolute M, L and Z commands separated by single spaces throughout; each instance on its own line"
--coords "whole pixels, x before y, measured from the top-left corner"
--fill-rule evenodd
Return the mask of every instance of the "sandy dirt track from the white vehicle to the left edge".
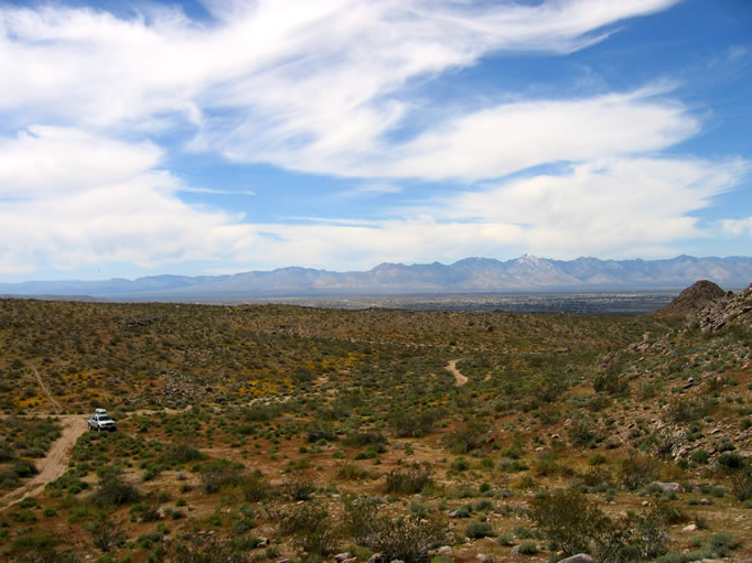
M 63 424 L 63 435 L 52 445 L 46 457 L 37 461 L 34 465 L 40 470 L 23 487 L 11 490 L 0 497 L 0 512 L 21 502 L 26 497 L 34 497 L 44 490 L 47 483 L 52 483 L 65 473 L 68 467 L 68 458 L 76 440 L 84 434 L 88 427 L 84 416 L 80 414 L 66 414 L 58 416 Z

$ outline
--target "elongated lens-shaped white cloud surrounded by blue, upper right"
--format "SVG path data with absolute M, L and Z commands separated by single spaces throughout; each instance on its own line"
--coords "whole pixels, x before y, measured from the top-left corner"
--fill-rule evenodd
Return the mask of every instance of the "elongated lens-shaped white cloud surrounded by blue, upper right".
M 587 161 L 645 153 L 699 130 L 676 102 L 652 98 L 651 89 L 578 100 L 519 101 L 461 116 L 393 148 L 387 162 L 365 166 L 385 175 L 502 176 L 556 161 Z

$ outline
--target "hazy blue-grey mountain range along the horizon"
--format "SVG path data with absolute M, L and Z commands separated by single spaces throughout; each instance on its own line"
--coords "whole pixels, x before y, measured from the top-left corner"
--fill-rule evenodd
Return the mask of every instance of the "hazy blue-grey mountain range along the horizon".
M 507 261 L 465 258 L 445 266 L 382 263 L 368 271 L 280 268 L 226 275 L 151 275 L 137 280 L 0 283 L 0 294 L 123 300 L 212 300 L 305 295 L 395 295 L 582 290 L 659 290 L 711 280 L 740 289 L 752 282 L 752 258 L 551 260 L 525 255 Z

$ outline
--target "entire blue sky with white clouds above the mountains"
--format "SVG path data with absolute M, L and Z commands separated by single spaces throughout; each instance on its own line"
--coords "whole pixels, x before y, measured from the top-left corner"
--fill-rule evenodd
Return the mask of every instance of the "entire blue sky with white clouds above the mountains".
M 0 281 L 750 249 L 749 0 L 0 0 Z

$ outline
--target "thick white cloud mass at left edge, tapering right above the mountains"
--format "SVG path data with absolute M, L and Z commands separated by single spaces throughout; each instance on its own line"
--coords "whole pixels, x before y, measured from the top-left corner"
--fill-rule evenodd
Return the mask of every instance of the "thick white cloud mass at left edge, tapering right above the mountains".
M 155 147 L 32 131 L 0 139 L 0 272 L 226 259 L 254 243 L 237 217 L 181 202 Z

